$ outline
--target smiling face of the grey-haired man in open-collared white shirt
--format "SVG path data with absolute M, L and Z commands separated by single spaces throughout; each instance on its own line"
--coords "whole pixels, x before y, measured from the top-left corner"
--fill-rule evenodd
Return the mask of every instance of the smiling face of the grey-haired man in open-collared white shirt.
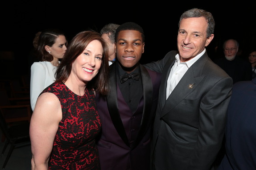
M 204 17 L 182 19 L 177 38 L 181 62 L 200 54 L 211 43 L 214 35 L 206 38 L 207 22 Z

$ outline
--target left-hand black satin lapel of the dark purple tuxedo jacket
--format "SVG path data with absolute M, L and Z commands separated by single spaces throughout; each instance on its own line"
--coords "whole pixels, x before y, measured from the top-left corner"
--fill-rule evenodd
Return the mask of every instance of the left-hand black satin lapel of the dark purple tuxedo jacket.
M 107 107 L 108 111 L 111 117 L 111 120 L 116 128 L 116 131 L 120 135 L 120 137 L 123 139 L 124 143 L 130 147 L 127 135 L 124 130 L 124 125 L 122 123 L 122 120 L 120 118 L 120 114 L 118 111 L 118 103 L 117 103 L 117 83 L 116 83 L 116 67 L 117 67 L 117 62 L 113 63 L 111 65 L 111 70 L 110 70 L 110 92 L 107 95 Z M 110 132 L 111 133 L 111 132 Z

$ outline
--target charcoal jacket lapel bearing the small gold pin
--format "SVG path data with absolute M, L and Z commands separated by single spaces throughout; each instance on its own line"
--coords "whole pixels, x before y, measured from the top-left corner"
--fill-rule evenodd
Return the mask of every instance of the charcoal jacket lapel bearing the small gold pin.
M 198 87 L 199 83 L 205 77 L 205 75 L 202 75 L 201 73 L 201 68 L 204 67 L 207 58 L 207 55 L 203 55 L 188 69 L 188 71 L 186 71 L 185 75 L 166 100 L 165 106 L 161 112 L 161 117 L 170 112 L 173 107 L 177 106 L 178 103 L 180 103 L 184 98 L 186 98 L 187 95 Z

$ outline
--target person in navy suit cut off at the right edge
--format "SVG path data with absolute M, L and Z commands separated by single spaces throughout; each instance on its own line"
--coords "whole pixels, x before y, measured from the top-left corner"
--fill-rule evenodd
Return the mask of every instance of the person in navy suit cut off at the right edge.
M 218 170 L 256 170 L 256 78 L 234 84 L 225 139 L 226 154 Z

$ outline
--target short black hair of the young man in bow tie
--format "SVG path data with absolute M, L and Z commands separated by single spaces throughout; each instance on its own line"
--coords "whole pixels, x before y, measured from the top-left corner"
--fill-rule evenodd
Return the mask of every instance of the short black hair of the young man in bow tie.
M 117 42 L 117 36 L 120 31 L 124 30 L 136 30 L 141 33 L 142 37 L 142 42 L 144 43 L 145 41 L 145 35 L 143 29 L 140 27 L 140 25 L 134 23 L 134 22 L 126 22 L 124 24 L 121 24 L 118 28 L 116 28 L 116 33 L 115 33 L 115 42 Z

